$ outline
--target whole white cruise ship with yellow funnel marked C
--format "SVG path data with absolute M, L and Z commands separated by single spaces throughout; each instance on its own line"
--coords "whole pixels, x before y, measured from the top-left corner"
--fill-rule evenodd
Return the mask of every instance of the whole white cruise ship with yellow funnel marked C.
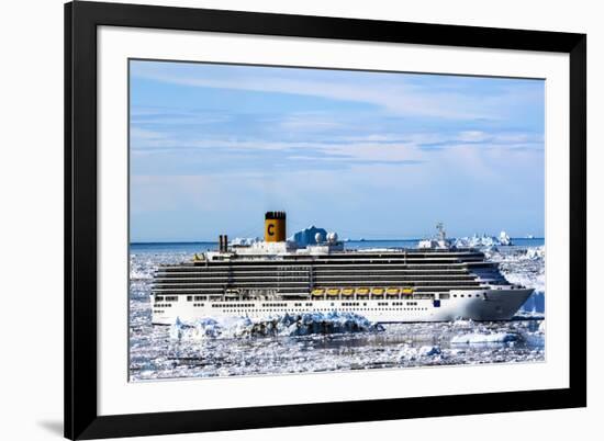
M 345 249 L 335 233 L 286 238 L 286 213 L 265 215 L 264 240 L 228 242 L 154 273 L 153 324 L 243 316 L 356 313 L 374 323 L 508 320 L 533 289 L 508 283 L 483 252 L 443 226 L 416 248 Z

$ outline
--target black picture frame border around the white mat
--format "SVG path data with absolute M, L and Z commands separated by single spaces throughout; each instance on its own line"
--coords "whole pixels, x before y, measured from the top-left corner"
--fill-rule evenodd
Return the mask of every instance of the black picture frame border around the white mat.
M 99 416 L 97 27 L 211 31 L 570 56 L 569 387 Z M 65 437 L 96 439 L 586 406 L 586 35 L 77 1 L 65 5 Z

